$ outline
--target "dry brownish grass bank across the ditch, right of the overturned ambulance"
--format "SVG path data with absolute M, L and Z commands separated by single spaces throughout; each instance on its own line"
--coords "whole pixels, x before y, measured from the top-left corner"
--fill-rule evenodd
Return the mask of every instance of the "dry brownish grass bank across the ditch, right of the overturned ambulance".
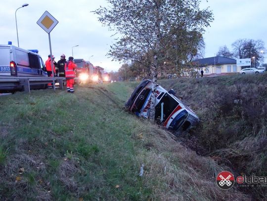
M 231 167 L 235 175 L 267 176 L 267 74 L 159 81 L 173 88 L 201 122 L 180 138 Z M 266 187 L 240 188 L 267 199 Z

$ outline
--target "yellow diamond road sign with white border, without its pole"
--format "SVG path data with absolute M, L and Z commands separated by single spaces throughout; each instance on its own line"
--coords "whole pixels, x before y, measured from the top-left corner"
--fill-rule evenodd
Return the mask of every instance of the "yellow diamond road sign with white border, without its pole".
M 44 12 L 42 17 L 37 21 L 37 24 L 42 27 L 47 34 L 57 25 L 58 21 L 47 11 Z

